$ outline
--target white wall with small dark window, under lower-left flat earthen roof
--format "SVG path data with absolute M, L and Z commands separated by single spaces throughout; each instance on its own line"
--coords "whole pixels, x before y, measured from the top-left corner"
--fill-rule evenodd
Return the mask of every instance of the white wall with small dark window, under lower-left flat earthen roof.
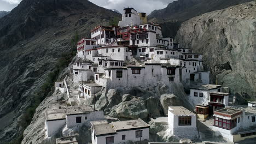
M 81 124 L 90 124 L 91 121 L 100 121 L 104 119 L 103 111 L 93 111 L 82 115 L 67 115 L 67 128 L 79 127 Z M 76 123 L 75 117 L 82 117 L 81 123 Z M 87 117 L 87 119 L 85 119 Z

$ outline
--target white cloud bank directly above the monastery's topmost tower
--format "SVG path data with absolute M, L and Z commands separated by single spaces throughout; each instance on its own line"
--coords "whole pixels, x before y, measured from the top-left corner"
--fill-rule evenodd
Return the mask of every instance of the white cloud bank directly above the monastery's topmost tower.
M 107 9 L 117 9 L 123 13 L 126 7 L 133 7 L 139 12 L 150 14 L 155 9 L 166 8 L 167 5 L 175 0 L 89 0 L 100 7 Z

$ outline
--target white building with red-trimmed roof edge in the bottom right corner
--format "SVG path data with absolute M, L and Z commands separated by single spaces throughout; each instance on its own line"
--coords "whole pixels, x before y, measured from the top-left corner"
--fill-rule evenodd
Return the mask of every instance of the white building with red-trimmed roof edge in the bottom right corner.
M 256 137 L 256 108 L 247 105 L 226 107 L 214 111 L 214 123 L 210 128 L 215 135 L 237 142 Z

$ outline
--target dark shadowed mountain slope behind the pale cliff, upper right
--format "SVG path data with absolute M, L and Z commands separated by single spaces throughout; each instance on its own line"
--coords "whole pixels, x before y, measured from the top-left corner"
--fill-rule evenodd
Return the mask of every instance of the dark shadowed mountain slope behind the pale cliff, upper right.
M 150 21 L 159 22 L 164 27 L 170 27 L 173 23 L 179 27 L 181 22 L 192 17 L 250 1 L 253 0 L 178 0 L 168 4 L 164 9 L 154 10 L 148 17 Z M 163 30 L 164 35 L 174 37 L 178 28 Z

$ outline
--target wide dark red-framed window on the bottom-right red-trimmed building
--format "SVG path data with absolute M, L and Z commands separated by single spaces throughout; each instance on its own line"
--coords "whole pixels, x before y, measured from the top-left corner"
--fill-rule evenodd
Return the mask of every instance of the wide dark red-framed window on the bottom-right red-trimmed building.
M 236 118 L 232 120 L 223 119 L 223 118 L 214 118 L 214 125 L 216 127 L 224 128 L 224 129 L 232 129 L 236 127 Z

